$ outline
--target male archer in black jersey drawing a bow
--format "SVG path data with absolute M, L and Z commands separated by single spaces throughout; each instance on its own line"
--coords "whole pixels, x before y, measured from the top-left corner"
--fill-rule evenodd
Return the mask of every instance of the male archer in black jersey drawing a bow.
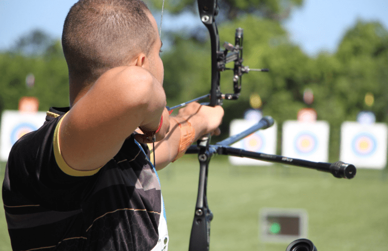
M 162 42 L 140 0 L 80 0 L 62 45 L 70 107 L 13 146 L 3 201 L 14 250 L 167 250 L 156 169 L 204 134 L 223 110 L 191 103 L 170 117 Z M 137 130 L 139 129 L 139 130 Z M 152 149 L 153 150 L 153 149 Z

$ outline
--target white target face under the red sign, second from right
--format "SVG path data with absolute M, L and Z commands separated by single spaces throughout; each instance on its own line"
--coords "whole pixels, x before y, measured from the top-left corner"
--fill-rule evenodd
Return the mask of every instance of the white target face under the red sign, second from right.
M 329 124 L 326 121 L 284 121 L 281 155 L 287 158 L 327 162 Z

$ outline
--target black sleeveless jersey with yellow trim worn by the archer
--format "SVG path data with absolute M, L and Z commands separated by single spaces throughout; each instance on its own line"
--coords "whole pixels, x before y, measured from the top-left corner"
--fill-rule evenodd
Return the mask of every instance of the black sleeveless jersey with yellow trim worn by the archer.
M 13 250 L 167 249 L 148 147 L 133 134 L 103 167 L 76 171 L 64 162 L 57 138 L 67 111 L 50 108 L 43 126 L 11 149 L 3 202 Z

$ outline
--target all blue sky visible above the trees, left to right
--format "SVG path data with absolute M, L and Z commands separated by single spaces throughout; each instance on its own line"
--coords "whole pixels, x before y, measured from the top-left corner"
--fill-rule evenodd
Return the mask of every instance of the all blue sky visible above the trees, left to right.
M 166 0 L 168 4 L 169 0 Z M 221 1 L 221 0 L 220 0 Z M 60 38 L 66 14 L 76 0 L 0 0 L 0 50 L 10 48 L 18 37 L 33 29 L 42 29 Z M 188 15 L 186 15 L 187 17 Z M 156 16 L 160 22 L 160 16 Z M 388 30 L 388 0 L 305 0 L 284 22 L 290 38 L 308 55 L 335 52 L 345 31 L 357 19 L 380 21 Z M 199 18 L 163 17 L 163 29 L 202 25 Z

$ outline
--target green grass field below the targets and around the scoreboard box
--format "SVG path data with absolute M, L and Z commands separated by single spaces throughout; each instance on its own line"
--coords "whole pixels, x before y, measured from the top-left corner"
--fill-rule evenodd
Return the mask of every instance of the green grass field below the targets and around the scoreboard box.
M 199 165 L 187 157 L 162 171 L 169 250 L 188 250 Z M 5 164 L 2 164 L 4 173 Z M 286 250 L 288 243 L 261 241 L 261 208 L 296 208 L 308 213 L 308 239 L 319 251 L 388 250 L 386 171 L 358 169 L 353 180 L 301 167 L 236 167 L 223 156 L 210 163 L 208 200 L 214 213 L 210 250 Z M 3 180 L 3 174 L 0 175 Z M 3 207 L 0 250 L 11 250 Z

